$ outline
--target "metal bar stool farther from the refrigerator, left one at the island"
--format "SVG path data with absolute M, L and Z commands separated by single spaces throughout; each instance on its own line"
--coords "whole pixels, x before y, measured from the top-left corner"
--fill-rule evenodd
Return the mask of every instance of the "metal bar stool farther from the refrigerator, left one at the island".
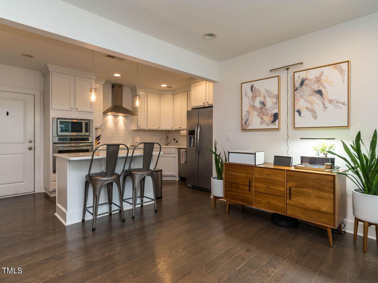
M 125 221 L 125 216 L 124 216 L 123 206 L 122 206 L 122 195 L 121 195 L 121 192 L 122 192 L 121 177 L 118 173 L 115 172 L 120 145 L 123 145 L 127 148 L 127 155 L 125 158 L 125 163 L 123 164 L 123 168 L 122 168 L 122 172 L 124 172 L 127 157 L 129 157 L 129 148 L 127 147 L 127 145 L 124 145 L 123 143 L 107 143 L 104 145 L 99 145 L 98 147 L 95 148 L 95 150 L 92 153 L 88 175 L 85 175 L 84 208 L 83 208 L 83 218 L 81 220 L 82 222 L 85 221 L 84 220 L 85 212 L 88 211 L 88 213 L 93 216 L 92 231 L 95 231 L 96 229 L 95 228 L 96 219 L 97 219 L 97 216 L 99 215 L 104 215 L 107 213 L 109 213 L 109 215 L 112 215 L 112 212 L 120 211 L 122 215 L 122 221 Z M 95 152 L 98 148 L 102 146 L 106 146 L 105 172 L 91 173 L 92 162 L 93 162 L 93 157 L 95 156 Z M 122 172 L 121 172 L 121 175 L 122 175 Z M 120 205 L 116 205 L 115 203 L 113 203 L 113 183 L 116 183 L 117 188 L 118 188 Z M 89 184 L 92 185 L 92 189 L 93 189 L 93 205 L 92 206 L 87 206 Z M 105 203 L 99 203 L 101 190 L 105 185 L 107 186 L 107 191 L 108 191 L 108 201 Z M 109 204 L 109 211 L 98 214 L 98 207 L 100 205 L 106 205 L 106 204 Z M 112 205 L 115 205 L 118 208 L 112 210 Z M 90 212 L 88 208 L 93 208 L 92 212 Z

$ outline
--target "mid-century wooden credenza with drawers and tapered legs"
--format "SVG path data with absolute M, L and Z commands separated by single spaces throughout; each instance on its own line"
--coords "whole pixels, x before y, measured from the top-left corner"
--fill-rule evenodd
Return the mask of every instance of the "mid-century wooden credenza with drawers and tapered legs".
M 223 195 L 227 201 L 307 221 L 327 230 L 342 231 L 346 217 L 346 177 L 294 167 L 225 163 Z

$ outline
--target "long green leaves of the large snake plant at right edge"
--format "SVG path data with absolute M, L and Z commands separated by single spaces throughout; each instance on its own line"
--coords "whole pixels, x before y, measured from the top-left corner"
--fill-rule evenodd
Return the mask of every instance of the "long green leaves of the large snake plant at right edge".
M 332 151 L 328 151 L 328 153 L 336 155 L 344 160 L 347 163 L 346 166 L 348 169 L 346 170 L 346 173 L 338 171 L 333 172 L 346 175 L 364 194 L 378 195 L 378 158 L 376 156 L 377 130 L 373 133 L 369 150 L 364 145 L 363 140 L 361 140 L 361 131 L 358 132 L 353 144 L 350 145 L 352 151 L 344 141 L 341 142 L 344 146 L 344 151 L 350 160 Z M 362 152 L 361 144 L 366 149 L 367 154 Z M 353 173 L 353 175 L 351 173 Z

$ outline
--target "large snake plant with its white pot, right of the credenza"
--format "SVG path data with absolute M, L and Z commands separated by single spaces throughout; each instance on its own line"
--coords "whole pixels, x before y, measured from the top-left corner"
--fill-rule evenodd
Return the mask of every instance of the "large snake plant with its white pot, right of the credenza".
M 369 149 L 366 148 L 363 140 L 361 140 L 361 132 L 358 132 L 353 144 L 350 145 L 351 149 L 344 141 L 341 142 L 349 159 L 332 151 L 328 151 L 328 153 L 340 157 L 347 163 L 348 169 L 346 173 L 337 171 L 335 173 L 346 175 L 357 186 L 352 191 L 353 215 L 362 221 L 378 223 L 377 130 L 374 131 Z M 361 144 L 366 154 L 363 152 Z

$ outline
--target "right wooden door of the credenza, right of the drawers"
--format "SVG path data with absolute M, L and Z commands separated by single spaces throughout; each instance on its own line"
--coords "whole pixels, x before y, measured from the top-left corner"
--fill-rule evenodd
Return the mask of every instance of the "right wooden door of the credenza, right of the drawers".
M 334 225 L 334 177 L 287 171 L 287 214 Z

